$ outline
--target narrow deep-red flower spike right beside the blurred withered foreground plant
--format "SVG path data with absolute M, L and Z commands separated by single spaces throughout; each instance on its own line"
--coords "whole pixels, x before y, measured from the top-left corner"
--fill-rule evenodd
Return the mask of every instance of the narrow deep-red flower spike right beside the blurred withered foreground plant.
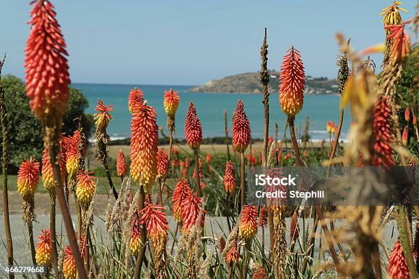
M 385 96 L 379 96 L 374 105 L 374 122 L 372 131 L 374 136 L 374 155 L 372 165 L 392 166 L 392 130 L 390 125 L 390 105 Z

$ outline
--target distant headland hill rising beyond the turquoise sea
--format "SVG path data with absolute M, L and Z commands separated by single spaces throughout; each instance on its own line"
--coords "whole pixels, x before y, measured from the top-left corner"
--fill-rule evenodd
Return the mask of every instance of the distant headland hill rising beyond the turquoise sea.
M 271 70 L 269 74 L 269 92 L 278 92 L 279 72 Z M 223 79 L 212 79 L 204 85 L 190 88 L 188 91 L 262 94 L 262 81 L 259 72 L 246 72 Z M 338 94 L 338 81 L 327 79 L 327 77 L 307 76 L 305 78 L 305 94 Z

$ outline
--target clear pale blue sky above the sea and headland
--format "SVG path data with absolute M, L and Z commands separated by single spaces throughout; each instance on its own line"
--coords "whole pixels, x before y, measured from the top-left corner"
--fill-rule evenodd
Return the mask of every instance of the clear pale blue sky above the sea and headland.
M 392 1 L 55 0 L 73 82 L 199 85 L 259 69 L 268 28 L 268 68 L 292 44 L 306 74 L 335 77 L 336 32 L 356 49 L 383 41 L 380 11 Z M 24 77 L 29 0 L 0 3 L 4 72 Z M 403 7 L 414 15 L 415 1 Z M 381 57 L 373 57 L 377 66 Z

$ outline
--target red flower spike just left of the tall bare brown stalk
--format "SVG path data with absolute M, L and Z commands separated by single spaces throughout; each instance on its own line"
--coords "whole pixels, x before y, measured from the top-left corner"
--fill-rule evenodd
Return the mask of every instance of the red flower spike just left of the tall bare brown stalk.
M 251 138 L 250 122 L 244 111 L 243 102 L 240 100 L 236 105 L 233 116 L 233 148 L 237 152 L 244 152 L 249 146 Z

